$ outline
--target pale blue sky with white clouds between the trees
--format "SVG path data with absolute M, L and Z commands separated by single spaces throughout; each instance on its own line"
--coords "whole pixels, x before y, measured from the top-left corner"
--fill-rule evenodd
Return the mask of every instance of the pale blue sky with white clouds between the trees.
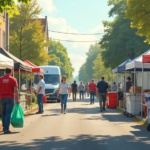
M 42 17 L 48 17 L 49 30 L 70 33 L 103 33 L 103 20 L 108 17 L 108 0 L 38 0 L 43 8 Z M 53 39 L 73 41 L 95 41 L 101 36 L 64 35 L 49 32 Z M 86 52 L 91 43 L 61 42 L 68 50 L 68 55 L 75 69 L 74 77 L 86 60 Z

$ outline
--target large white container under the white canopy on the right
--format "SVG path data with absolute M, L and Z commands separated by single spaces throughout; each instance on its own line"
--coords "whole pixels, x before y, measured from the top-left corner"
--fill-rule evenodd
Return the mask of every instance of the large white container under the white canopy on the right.
M 141 111 L 141 94 L 126 93 L 126 111 L 132 115 L 139 115 Z

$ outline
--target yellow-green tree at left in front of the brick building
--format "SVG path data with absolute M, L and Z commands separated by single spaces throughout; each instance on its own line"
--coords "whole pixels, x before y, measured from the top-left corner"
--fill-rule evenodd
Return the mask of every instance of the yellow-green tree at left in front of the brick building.
M 36 17 L 41 13 L 37 0 L 29 4 L 18 4 L 19 15 L 11 18 L 10 24 L 10 52 L 21 60 L 28 59 L 36 65 L 48 64 L 51 55 L 44 50 L 50 41 L 45 41 L 45 33 L 40 20 Z

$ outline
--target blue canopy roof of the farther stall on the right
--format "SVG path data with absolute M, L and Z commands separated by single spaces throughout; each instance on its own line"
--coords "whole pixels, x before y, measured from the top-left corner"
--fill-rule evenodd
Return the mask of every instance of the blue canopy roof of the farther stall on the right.
M 112 70 L 112 74 L 114 74 L 114 73 L 124 73 L 125 72 L 126 64 L 129 63 L 129 62 L 131 62 L 131 59 L 127 59 L 125 62 L 123 62 L 117 68 L 115 68 L 114 70 Z

